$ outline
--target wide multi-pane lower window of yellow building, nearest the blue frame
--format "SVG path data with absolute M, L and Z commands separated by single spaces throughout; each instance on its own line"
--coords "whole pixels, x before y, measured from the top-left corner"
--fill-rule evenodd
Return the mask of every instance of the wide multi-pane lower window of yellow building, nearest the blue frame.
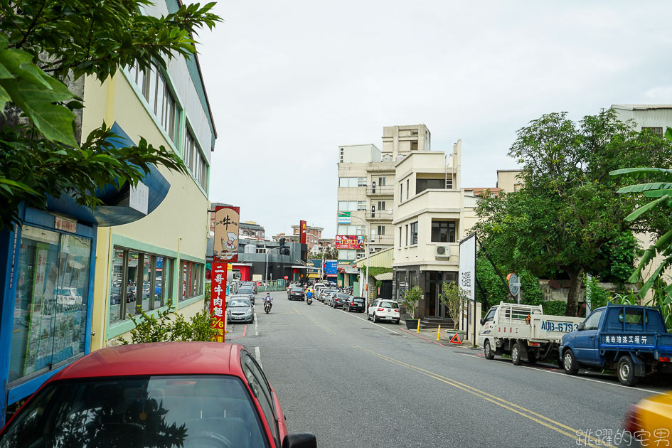
M 165 306 L 173 297 L 173 258 L 114 247 L 110 323 Z

